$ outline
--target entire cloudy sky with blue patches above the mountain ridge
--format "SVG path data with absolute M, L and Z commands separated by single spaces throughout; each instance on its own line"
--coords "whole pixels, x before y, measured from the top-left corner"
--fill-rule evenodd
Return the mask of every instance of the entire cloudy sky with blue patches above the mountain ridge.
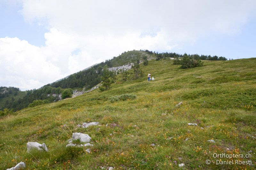
M 124 51 L 255 57 L 255 0 L 0 0 L 0 86 L 40 88 Z

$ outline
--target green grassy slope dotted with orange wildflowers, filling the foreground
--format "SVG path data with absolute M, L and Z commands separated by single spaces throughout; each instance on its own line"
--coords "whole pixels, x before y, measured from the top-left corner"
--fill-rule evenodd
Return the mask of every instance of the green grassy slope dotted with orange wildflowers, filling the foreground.
M 141 65 L 144 78 L 117 82 L 107 92 L 95 90 L 23 109 L 0 120 L 0 166 L 6 169 L 24 161 L 28 169 L 178 169 L 180 163 L 186 169 L 248 169 L 206 165 L 205 160 L 216 161 L 212 153 L 252 150 L 255 165 L 256 145 L 251 137 L 256 137 L 255 107 L 244 107 L 256 105 L 255 65 L 256 58 L 204 61 L 203 67 L 181 70 L 171 60 L 152 60 L 148 66 Z M 155 81 L 147 82 L 149 71 Z M 109 97 L 123 93 L 137 98 L 110 103 Z M 174 107 L 180 101 L 182 105 Z M 76 129 L 87 121 L 98 121 L 101 126 Z M 62 129 L 64 124 L 68 128 Z M 92 153 L 84 151 L 89 147 L 65 148 L 73 132 L 92 137 Z M 49 152 L 26 153 L 28 141 L 44 142 Z

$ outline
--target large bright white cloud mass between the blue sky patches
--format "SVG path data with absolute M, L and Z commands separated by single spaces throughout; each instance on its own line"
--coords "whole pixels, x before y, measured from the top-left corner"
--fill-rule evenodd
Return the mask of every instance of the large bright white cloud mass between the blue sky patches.
M 49 29 L 45 46 L 1 38 L 0 78 L 5 85 L 32 89 L 123 51 L 172 50 L 212 33 L 239 33 L 255 16 L 256 1 L 23 0 L 22 4 L 20 13 L 26 21 Z

